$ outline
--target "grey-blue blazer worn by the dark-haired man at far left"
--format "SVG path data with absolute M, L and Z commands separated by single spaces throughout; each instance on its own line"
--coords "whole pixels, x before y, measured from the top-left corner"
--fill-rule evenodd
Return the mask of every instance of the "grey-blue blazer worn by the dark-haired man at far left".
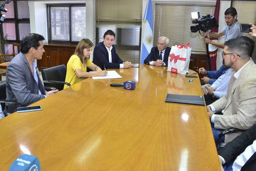
M 17 101 L 17 104 L 8 104 L 5 112 L 13 113 L 17 107 L 28 106 L 45 96 L 43 83 L 38 75 L 38 85 L 30 70 L 27 58 L 19 53 L 10 62 L 6 70 L 6 100 Z M 42 95 L 38 95 L 38 88 Z

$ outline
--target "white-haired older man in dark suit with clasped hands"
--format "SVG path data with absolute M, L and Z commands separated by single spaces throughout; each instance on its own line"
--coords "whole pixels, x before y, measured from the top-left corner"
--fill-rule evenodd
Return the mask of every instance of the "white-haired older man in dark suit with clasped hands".
M 169 39 L 161 36 L 157 41 L 157 47 L 153 47 L 144 60 L 144 64 L 155 66 L 167 66 L 171 48 L 168 47 Z

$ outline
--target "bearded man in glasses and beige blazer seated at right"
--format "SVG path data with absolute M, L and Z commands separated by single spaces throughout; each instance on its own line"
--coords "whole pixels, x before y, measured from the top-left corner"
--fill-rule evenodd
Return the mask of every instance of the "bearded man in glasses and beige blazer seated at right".
M 232 68 L 235 74 L 229 81 L 227 95 L 207 106 L 215 140 L 222 130 L 230 127 L 247 130 L 256 123 L 256 65 L 250 60 L 252 41 L 248 37 L 238 37 L 224 43 L 224 65 Z M 226 135 L 222 141 L 232 141 L 239 134 Z

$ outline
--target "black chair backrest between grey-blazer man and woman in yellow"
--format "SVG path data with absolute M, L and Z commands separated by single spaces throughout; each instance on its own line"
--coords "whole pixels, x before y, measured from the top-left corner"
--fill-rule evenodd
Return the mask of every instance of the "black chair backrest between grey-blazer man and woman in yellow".
M 43 80 L 46 81 L 65 81 L 67 68 L 65 65 L 53 66 L 42 70 Z M 55 87 L 59 91 L 63 90 L 64 85 L 54 83 L 44 83 L 44 86 Z

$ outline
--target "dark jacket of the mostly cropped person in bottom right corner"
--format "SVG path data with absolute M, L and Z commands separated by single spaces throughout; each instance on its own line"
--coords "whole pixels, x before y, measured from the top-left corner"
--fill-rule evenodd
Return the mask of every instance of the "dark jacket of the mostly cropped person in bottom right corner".
M 233 141 L 230 141 L 226 146 L 219 149 L 218 154 L 222 156 L 226 163 L 233 162 L 247 146 L 250 146 L 256 140 L 256 124 L 249 130 L 237 136 Z M 256 170 L 256 153 L 245 163 L 241 171 L 255 171 Z

